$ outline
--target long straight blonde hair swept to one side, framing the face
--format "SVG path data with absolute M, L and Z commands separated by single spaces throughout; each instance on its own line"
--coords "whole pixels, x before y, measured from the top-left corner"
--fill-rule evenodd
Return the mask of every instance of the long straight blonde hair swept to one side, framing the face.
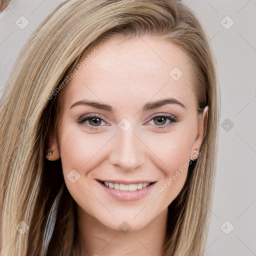
M 61 211 L 47 253 L 81 255 L 75 203 L 63 185 L 61 161 L 44 157 L 61 92 L 50 100 L 48 95 L 97 43 L 112 35 L 147 34 L 168 39 L 187 54 L 198 111 L 208 105 L 201 154 L 169 205 L 164 247 L 166 256 L 203 255 L 216 169 L 219 92 L 208 39 L 192 11 L 175 0 L 67 0 L 32 33 L 0 104 L 1 255 L 46 255 L 43 232 L 61 187 Z

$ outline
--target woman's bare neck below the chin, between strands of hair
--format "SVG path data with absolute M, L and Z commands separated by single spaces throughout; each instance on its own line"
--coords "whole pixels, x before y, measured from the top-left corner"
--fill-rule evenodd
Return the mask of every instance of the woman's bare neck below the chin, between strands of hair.
M 77 224 L 82 243 L 91 256 L 162 256 L 167 208 L 140 230 L 113 230 L 78 207 Z

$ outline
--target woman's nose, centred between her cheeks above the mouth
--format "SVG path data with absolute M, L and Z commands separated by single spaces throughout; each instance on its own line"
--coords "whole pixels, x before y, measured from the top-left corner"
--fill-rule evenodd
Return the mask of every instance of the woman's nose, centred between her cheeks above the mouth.
M 118 128 L 109 161 L 122 170 L 133 170 L 145 162 L 144 144 L 139 136 L 134 134 L 131 126 L 127 131 Z

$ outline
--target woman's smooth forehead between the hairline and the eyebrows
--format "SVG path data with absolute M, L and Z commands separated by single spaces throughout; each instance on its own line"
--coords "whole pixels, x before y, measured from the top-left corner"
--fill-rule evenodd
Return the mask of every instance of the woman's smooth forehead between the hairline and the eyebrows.
M 66 86 L 67 104 L 89 98 L 115 107 L 116 103 L 142 104 L 166 96 L 195 104 L 188 57 L 166 39 L 113 37 L 87 52 L 81 61 L 85 59 Z

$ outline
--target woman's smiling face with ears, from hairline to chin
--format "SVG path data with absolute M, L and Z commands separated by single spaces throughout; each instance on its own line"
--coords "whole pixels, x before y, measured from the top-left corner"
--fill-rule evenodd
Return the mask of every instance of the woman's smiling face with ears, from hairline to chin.
M 184 185 L 205 112 L 188 58 L 170 41 L 110 38 L 91 52 L 64 88 L 51 150 L 80 216 L 141 229 Z

